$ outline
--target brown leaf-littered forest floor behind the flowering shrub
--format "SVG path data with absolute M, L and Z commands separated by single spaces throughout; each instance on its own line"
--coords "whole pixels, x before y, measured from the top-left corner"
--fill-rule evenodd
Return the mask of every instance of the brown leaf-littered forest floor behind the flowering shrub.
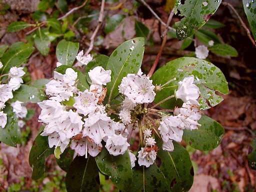
M 11 0 L 6 1 L 13 3 Z M 37 0 L 32 0 L 32 2 L 38 3 Z M 229 2 L 237 10 L 242 10 L 240 0 L 230 0 Z M 26 8 L 13 5 L 5 15 L 1 15 L 1 44 L 10 45 L 16 41 L 25 41 L 26 30 L 6 33 L 6 26 L 16 20 L 32 21 L 30 13 L 36 9 L 33 3 L 23 4 Z M 129 4 L 123 4 L 123 6 L 129 6 Z M 163 6 L 157 6 L 156 9 L 161 14 L 161 18 L 166 20 L 168 13 L 163 10 Z M 146 73 L 159 50 L 159 31 L 161 29 L 158 28 L 159 25 L 153 15 L 148 16 L 145 12 L 145 7 L 138 10 L 140 20 L 153 31 L 154 40 L 154 45 L 151 48 L 145 48 L 142 71 Z M 240 15 L 245 21 L 245 14 L 240 13 Z M 252 46 L 237 18 L 226 7 L 220 6 L 212 18 L 225 24 L 224 27 L 216 29 L 214 32 L 225 43 L 235 47 L 239 55 L 238 57 L 222 57 L 210 53 L 208 56 L 209 60 L 223 71 L 228 81 L 229 93 L 223 95 L 224 100 L 220 104 L 204 113 L 218 121 L 224 127 L 225 134 L 220 145 L 211 151 L 195 150 L 184 144 L 194 165 L 194 183 L 190 192 L 252 192 L 256 191 L 256 171 L 248 167 L 246 156 L 256 130 L 256 61 L 253 56 L 256 55 L 256 48 Z M 130 16 L 125 19 L 134 25 L 132 23 L 134 20 Z M 177 18 L 174 17 L 173 22 L 175 19 Z M 127 39 L 132 38 L 135 34 L 134 29 L 127 29 L 125 32 L 127 32 L 125 34 Z M 103 31 L 99 31 L 99 33 L 104 35 Z M 120 33 L 121 29 L 116 28 L 115 31 L 105 35 L 102 47 L 97 51 L 109 55 L 113 48 L 123 41 Z M 80 42 L 80 45 L 81 49 L 86 50 L 86 43 Z M 168 52 L 169 49 L 177 50 L 180 47 L 180 42 L 176 39 L 169 38 L 165 47 L 168 49 L 164 49 L 159 65 L 186 54 L 185 51 L 180 50 L 176 53 Z M 193 51 L 194 47 L 191 45 L 186 50 Z M 28 59 L 28 70 L 32 79 L 51 78 L 56 61 L 54 46 L 50 47 L 50 52 L 46 57 L 35 51 Z M 28 107 L 35 108 L 35 115 L 27 122 L 30 127 L 27 140 L 23 144 L 17 145 L 16 148 L 0 143 L 0 191 L 7 190 L 8 187 L 9 191 L 64 191 L 65 173 L 55 166 L 56 163 L 52 156 L 46 160 L 47 177 L 39 181 L 31 179 L 32 171 L 28 164 L 28 155 L 41 124 L 37 122 L 40 109 L 35 104 L 30 104 Z

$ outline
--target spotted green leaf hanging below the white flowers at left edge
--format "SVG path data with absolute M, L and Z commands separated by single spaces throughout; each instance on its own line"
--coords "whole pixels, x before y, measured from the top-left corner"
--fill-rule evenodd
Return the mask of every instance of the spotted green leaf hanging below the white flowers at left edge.
M 5 103 L 6 106 L 3 109 L 3 112 L 7 114 L 7 123 L 4 128 L 0 126 L 0 141 L 10 145 L 10 146 L 16 146 L 17 141 L 19 138 L 17 137 L 17 115 L 13 112 L 12 107 Z

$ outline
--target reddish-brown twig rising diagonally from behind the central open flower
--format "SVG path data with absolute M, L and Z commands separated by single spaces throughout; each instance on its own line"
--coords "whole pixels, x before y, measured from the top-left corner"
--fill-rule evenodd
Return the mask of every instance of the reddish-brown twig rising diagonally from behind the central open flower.
M 151 76 L 152 76 L 152 74 L 153 74 L 153 72 L 154 72 L 154 70 L 155 70 L 155 68 L 156 68 L 156 65 L 157 65 L 157 63 L 158 63 L 158 61 L 159 61 L 159 58 L 160 58 L 160 56 L 161 56 L 161 54 L 162 54 L 162 50 L 163 50 L 163 48 L 164 48 L 164 46 L 165 46 L 165 43 L 166 43 L 166 40 L 167 40 L 167 30 L 168 30 L 168 26 L 169 26 L 169 24 L 170 24 L 170 21 L 171 21 L 171 19 L 172 19 L 173 14 L 174 14 L 174 8 L 173 8 L 173 9 L 171 10 L 171 12 L 170 12 L 170 15 L 169 15 L 169 17 L 168 17 L 167 23 L 166 23 L 166 25 L 165 25 L 165 30 L 163 31 L 163 33 L 162 33 L 162 35 L 161 35 L 161 37 L 163 37 L 162 44 L 161 44 L 160 50 L 159 50 L 159 52 L 157 53 L 157 56 L 156 56 L 156 58 L 155 58 L 155 60 L 154 60 L 154 63 L 153 63 L 152 67 L 150 68 L 150 70 L 149 70 L 149 72 L 148 72 L 148 74 L 147 74 L 148 77 L 151 77 Z

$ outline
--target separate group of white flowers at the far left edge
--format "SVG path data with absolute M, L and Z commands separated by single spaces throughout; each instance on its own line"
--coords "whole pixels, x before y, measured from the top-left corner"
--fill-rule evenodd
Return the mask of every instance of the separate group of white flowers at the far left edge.
M 2 68 L 2 63 L 0 62 L 0 68 Z M 23 83 L 23 80 L 21 76 L 25 74 L 23 71 L 24 67 L 16 67 L 13 66 L 10 68 L 8 74 L 8 78 L 1 82 L 0 84 L 0 127 L 4 128 L 7 123 L 7 114 L 4 113 L 2 110 L 5 107 L 5 102 L 12 98 L 12 91 L 16 90 L 20 87 L 21 83 Z M 6 83 L 7 82 L 7 83 Z M 27 114 L 26 107 L 22 104 L 23 102 L 15 101 L 11 103 L 11 106 L 13 107 L 13 112 L 20 117 L 23 118 Z M 19 123 L 19 126 L 22 126 L 21 123 Z

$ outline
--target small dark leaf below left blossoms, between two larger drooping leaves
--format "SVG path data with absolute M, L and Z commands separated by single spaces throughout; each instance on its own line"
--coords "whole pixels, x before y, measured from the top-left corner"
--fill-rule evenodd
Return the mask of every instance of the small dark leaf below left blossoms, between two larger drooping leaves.
M 74 150 L 71 150 L 69 147 L 64 150 L 62 154 L 60 154 L 60 158 L 56 161 L 58 166 L 67 172 L 70 167 L 71 162 L 73 161 Z

